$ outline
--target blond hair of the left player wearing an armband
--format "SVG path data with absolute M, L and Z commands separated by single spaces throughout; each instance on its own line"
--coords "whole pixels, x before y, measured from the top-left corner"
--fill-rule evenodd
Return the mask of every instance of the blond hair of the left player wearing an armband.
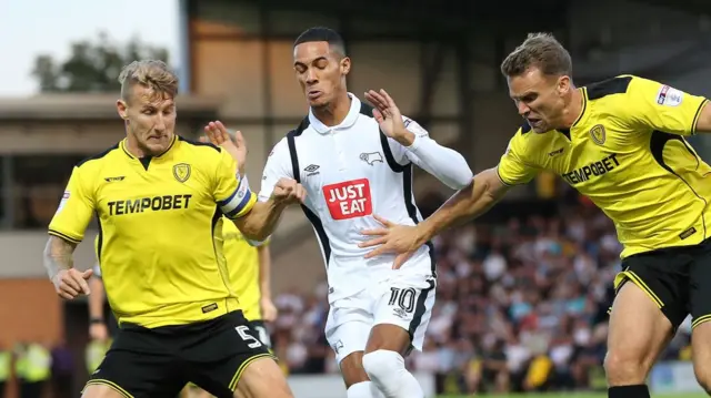
M 158 60 L 141 60 L 129 63 L 121 70 L 119 83 L 121 83 L 121 99 L 123 101 L 129 99 L 131 89 L 136 84 L 170 98 L 178 94 L 178 75 L 168 68 L 166 62 Z

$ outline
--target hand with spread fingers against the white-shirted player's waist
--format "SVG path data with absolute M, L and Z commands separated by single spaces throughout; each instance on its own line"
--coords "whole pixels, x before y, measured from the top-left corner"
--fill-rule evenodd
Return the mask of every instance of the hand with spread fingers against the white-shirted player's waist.
M 423 245 L 424 242 L 420 236 L 420 232 L 414 226 L 395 224 L 379 215 L 373 215 L 373 217 L 382 227 L 361 231 L 361 234 L 372 238 L 358 244 L 358 247 L 378 246 L 365 254 L 365 258 L 372 258 L 381 254 L 395 254 L 392 268 L 399 269 Z

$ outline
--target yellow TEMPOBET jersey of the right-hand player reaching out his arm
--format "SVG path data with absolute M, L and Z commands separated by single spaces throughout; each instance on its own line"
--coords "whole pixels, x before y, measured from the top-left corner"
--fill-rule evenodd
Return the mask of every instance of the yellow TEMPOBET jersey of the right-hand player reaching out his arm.
M 711 167 L 687 143 L 708 100 L 621 75 L 582 88 L 570 130 L 537 134 L 524 124 L 498 166 L 523 184 L 550 170 L 615 224 L 622 257 L 699 244 L 711 229 Z

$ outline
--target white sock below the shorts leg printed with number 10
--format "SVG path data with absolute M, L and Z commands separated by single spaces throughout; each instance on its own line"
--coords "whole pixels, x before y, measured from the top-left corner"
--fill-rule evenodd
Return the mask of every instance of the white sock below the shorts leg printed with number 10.
M 418 380 L 399 353 L 379 349 L 363 356 L 363 369 L 385 398 L 424 398 Z

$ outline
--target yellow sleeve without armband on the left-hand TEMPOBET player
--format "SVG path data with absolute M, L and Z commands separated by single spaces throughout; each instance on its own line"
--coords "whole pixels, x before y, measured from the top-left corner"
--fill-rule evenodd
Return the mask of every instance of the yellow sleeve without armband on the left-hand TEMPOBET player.
M 49 234 L 64 241 L 80 243 L 94 213 L 91 187 L 87 186 L 86 170 L 74 167 L 69 177 L 57 213 L 49 224 Z

